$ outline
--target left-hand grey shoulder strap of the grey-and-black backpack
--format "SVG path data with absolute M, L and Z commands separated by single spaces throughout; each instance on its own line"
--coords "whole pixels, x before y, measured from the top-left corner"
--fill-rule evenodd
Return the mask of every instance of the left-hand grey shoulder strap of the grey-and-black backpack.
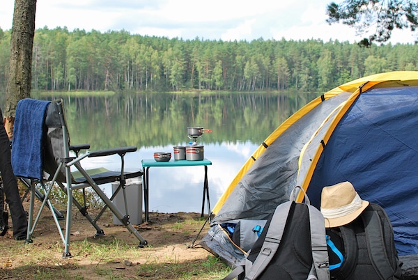
M 277 206 L 272 216 L 270 226 L 268 227 L 267 234 L 265 235 L 263 246 L 261 247 L 260 253 L 258 254 L 256 260 L 254 260 L 254 263 L 251 263 L 251 261 L 247 260 L 247 258 L 245 259 L 246 280 L 256 279 L 258 275 L 260 275 L 261 272 L 265 270 L 265 267 L 267 267 L 268 263 L 270 263 L 270 260 L 273 258 L 274 254 L 276 254 L 287 220 L 283 219 L 283 213 L 288 213 L 291 210 L 291 205 L 294 203 L 295 201 L 288 201 Z M 280 212 L 281 215 L 276 215 L 277 212 Z

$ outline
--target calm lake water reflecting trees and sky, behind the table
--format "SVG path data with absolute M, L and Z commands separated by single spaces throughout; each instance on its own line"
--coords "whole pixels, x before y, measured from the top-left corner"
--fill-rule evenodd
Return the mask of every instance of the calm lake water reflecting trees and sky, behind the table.
M 173 153 L 189 141 L 187 127 L 212 130 L 198 140 L 208 166 L 213 208 L 242 165 L 274 129 L 316 93 L 141 93 L 104 97 L 63 98 L 72 144 L 90 143 L 91 150 L 137 146 L 125 157 L 125 169 L 142 169 L 154 152 Z M 118 156 L 86 159 L 84 168 L 120 170 Z M 150 168 L 150 212 L 200 212 L 203 166 Z M 111 184 L 104 186 L 111 194 Z M 205 208 L 205 212 L 206 212 Z

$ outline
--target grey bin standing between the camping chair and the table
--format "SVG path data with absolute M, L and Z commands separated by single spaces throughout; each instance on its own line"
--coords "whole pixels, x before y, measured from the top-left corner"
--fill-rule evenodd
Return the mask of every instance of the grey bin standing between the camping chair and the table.
M 114 194 L 118 189 L 118 182 L 112 182 L 111 192 Z M 142 224 L 142 180 L 141 178 L 132 178 L 126 180 L 125 185 L 127 214 L 130 215 L 131 224 Z M 122 215 L 126 215 L 125 201 L 123 200 L 123 189 L 119 190 L 118 194 L 114 197 L 114 205 L 122 212 Z M 113 223 L 117 225 L 123 225 L 119 219 L 113 215 Z

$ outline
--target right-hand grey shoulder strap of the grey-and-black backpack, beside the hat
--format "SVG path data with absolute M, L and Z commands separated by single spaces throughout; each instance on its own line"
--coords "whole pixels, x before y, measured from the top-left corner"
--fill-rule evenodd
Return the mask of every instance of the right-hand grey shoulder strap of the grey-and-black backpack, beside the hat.
M 325 239 L 325 221 L 323 215 L 314 206 L 308 205 L 311 226 L 312 258 L 318 280 L 330 279 L 328 265 L 327 240 Z

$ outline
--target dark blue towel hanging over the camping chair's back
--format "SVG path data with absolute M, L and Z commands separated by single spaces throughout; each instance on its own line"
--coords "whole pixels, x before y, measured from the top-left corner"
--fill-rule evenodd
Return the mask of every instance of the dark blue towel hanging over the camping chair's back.
M 11 158 L 15 176 L 42 180 L 45 116 L 50 103 L 30 98 L 17 103 Z

